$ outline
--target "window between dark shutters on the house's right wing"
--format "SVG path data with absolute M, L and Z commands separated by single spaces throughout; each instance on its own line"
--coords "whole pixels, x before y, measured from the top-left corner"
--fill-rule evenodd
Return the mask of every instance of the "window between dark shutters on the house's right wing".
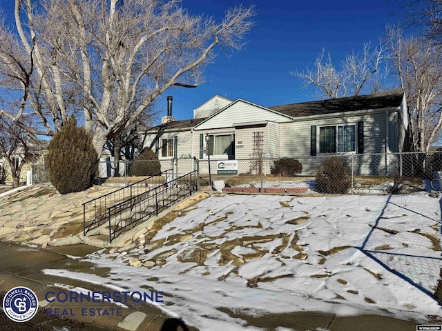
M 356 126 L 323 126 L 319 130 L 319 152 L 355 152 Z

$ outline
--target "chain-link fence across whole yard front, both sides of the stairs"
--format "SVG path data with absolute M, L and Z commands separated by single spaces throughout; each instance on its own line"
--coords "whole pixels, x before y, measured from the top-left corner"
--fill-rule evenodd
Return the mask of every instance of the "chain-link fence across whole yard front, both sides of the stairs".
M 441 190 L 442 152 L 349 154 L 280 159 L 196 158 L 115 162 L 101 159 L 96 183 L 129 185 L 173 169 L 177 178 L 198 172 L 200 187 L 222 181 L 224 192 L 278 194 L 399 194 Z M 49 183 L 43 164 L 32 165 L 32 183 Z

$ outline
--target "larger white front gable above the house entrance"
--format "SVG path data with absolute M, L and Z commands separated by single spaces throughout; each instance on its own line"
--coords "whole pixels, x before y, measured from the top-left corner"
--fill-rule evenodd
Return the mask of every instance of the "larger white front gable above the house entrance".
M 233 123 L 250 123 L 256 121 L 282 122 L 290 117 L 267 110 L 253 103 L 238 99 L 224 108 L 218 114 L 196 126 L 196 130 L 208 130 L 215 128 L 231 128 Z

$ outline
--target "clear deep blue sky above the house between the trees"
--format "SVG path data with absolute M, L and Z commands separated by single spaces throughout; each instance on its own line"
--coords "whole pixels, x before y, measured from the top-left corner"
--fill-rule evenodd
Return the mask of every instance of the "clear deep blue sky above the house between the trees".
M 218 56 L 206 68 L 205 83 L 167 91 L 157 103 L 161 114 L 166 113 L 166 95 L 173 96 L 177 119 L 191 119 L 193 109 L 215 94 L 262 106 L 317 99 L 313 89 L 302 88 L 289 72 L 305 70 L 322 48 L 338 63 L 346 53 L 361 50 L 363 43 L 376 43 L 387 24 L 403 19 L 394 14 L 398 8 L 392 0 L 182 0 L 191 12 L 218 21 L 227 8 L 239 4 L 254 4 L 257 10 L 247 45 L 233 54 L 216 50 Z M 13 14 L 13 1 L 0 0 L 0 6 Z

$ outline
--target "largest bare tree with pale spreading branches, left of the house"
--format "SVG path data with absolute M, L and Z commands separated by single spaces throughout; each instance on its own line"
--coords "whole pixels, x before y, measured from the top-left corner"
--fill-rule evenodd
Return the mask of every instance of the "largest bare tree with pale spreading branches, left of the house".
M 253 7 L 236 7 L 215 23 L 175 0 L 16 0 L 16 30 L 0 26 L 0 53 L 34 61 L 20 86 L 39 127 L 26 126 L 23 112 L 0 113 L 29 134 L 51 136 L 81 110 L 101 154 L 164 91 L 197 86 L 218 44 L 242 48 L 253 15 Z

